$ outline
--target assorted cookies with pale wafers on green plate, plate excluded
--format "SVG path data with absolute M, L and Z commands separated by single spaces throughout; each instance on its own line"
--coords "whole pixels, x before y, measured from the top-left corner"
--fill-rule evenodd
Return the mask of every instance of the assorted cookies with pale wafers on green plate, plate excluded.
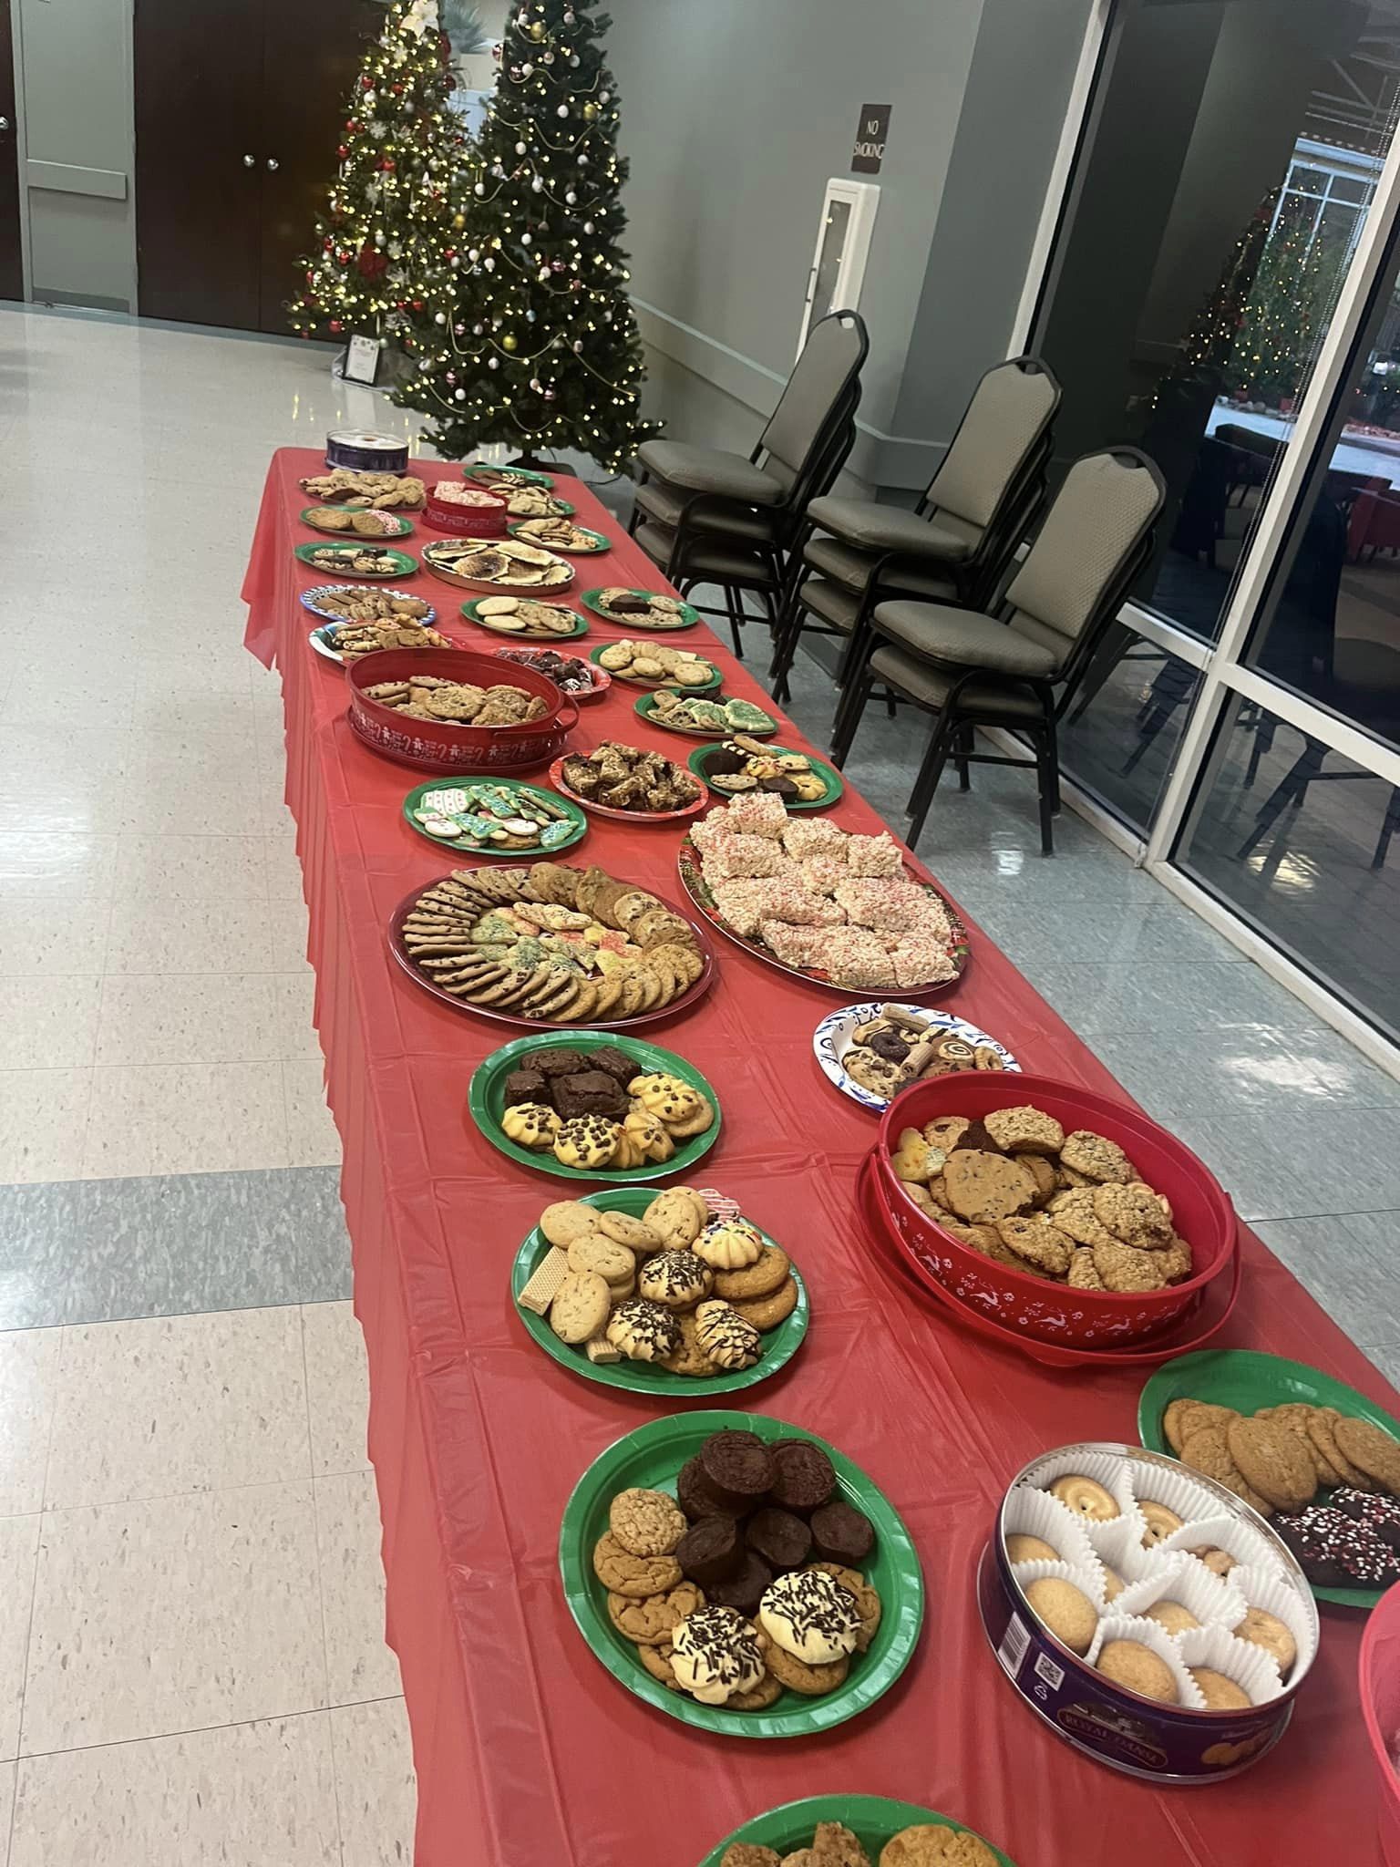
M 551 1251 L 525 1309 L 594 1363 L 650 1361 L 706 1380 L 752 1369 L 797 1307 L 791 1260 L 734 1200 L 674 1186 L 638 1219 L 564 1199 L 539 1215 Z

